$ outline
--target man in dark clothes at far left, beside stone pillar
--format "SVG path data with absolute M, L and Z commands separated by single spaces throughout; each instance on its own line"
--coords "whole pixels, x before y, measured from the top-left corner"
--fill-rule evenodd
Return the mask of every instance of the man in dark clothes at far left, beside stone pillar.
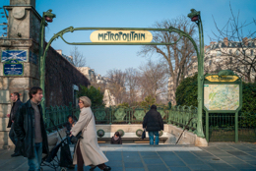
M 15 144 L 14 154 L 12 154 L 11 156 L 15 157 L 15 156 L 19 156 L 20 152 L 19 152 L 19 147 L 17 147 L 18 140 L 14 133 L 14 124 L 13 123 L 15 122 L 18 108 L 23 104 L 23 102 L 20 100 L 19 92 L 12 93 L 11 100 L 13 101 L 13 106 L 11 109 L 11 113 L 7 114 L 7 116 L 9 117 L 9 122 L 8 122 L 7 128 L 11 128 L 11 130 L 9 132 L 9 138 Z

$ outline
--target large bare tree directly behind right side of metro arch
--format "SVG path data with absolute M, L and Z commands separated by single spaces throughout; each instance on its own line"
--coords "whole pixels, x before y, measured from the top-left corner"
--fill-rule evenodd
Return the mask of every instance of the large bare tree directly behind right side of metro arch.
M 179 28 L 194 39 L 196 38 L 196 25 L 192 23 L 187 17 L 181 16 L 174 20 L 165 20 L 157 22 L 154 28 Z M 177 33 L 168 31 L 156 31 L 153 35 L 154 42 L 175 42 L 178 40 L 179 35 Z M 143 46 L 143 49 L 139 54 L 145 56 L 149 54 L 157 53 L 160 59 L 164 60 L 168 67 L 168 74 L 171 77 L 172 87 L 169 100 L 173 105 L 176 104 L 175 91 L 180 81 L 184 78 L 187 72 L 187 65 L 191 61 L 191 57 L 195 55 L 195 49 L 193 44 L 186 37 L 181 37 L 181 39 L 172 45 L 152 45 Z

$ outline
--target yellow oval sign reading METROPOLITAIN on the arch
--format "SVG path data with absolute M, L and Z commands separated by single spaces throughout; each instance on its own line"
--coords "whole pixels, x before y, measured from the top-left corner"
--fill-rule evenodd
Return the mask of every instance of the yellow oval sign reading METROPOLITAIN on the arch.
M 148 30 L 96 30 L 92 42 L 151 42 L 153 35 Z

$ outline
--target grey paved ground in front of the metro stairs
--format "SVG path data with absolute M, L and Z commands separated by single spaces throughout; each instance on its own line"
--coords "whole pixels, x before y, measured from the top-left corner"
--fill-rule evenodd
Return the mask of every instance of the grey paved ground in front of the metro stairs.
M 256 144 L 212 142 L 193 145 L 100 145 L 112 171 L 256 171 Z M 13 149 L 0 149 L 1 171 L 27 171 L 27 159 L 11 157 Z M 85 167 L 85 171 L 90 168 Z M 43 167 L 44 171 L 52 171 Z M 59 169 L 58 169 L 59 170 Z M 69 169 L 71 170 L 71 169 Z M 76 170 L 73 169 L 73 170 Z M 95 169 L 99 171 L 98 168 Z

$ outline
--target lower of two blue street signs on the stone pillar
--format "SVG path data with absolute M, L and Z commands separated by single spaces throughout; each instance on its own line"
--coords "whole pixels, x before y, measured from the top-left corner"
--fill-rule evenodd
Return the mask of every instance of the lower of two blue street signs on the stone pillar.
M 4 76 L 22 76 L 23 68 L 23 64 L 20 64 L 18 60 L 11 59 L 4 64 Z

